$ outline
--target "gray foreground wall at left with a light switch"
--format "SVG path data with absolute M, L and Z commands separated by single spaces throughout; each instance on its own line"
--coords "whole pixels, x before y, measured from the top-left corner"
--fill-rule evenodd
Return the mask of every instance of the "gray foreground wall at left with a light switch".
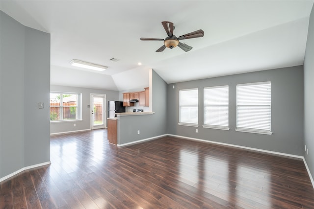
M 49 83 L 50 34 L 0 11 L 0 178 L 50 161 Z

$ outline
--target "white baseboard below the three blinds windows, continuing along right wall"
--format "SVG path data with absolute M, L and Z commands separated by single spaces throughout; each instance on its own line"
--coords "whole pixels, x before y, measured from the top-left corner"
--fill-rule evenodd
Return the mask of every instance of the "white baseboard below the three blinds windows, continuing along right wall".
M 264 150 L 264 149 L 257 149 L 257 148 L 252 148 L 252 147 L 246 147 L 246 146 L 239 146 L 235 144 L 229 144 L 229 143 L 222 143 L 222 142 L 217 142 L 217 141 L 210 141 L 210 140 L 205 140 L 205 139 L 196 139 L 196 138 L 190 138 L 190 137 L 183 137 L 183 136 L 178 136 L 178 135 L 173 135 L 173 134 L 168 134 L 170 137 L 176 137 L 176 138 L 182 138 L 182 139 L 189 139 L 189 140 L 196 140 L 196 141 L 202 141 L 202 142 L 207 142 L 207 143 L 213 143 L 213 144 L 220 144 L 220 145 L 225 145 L 225 146 L 231 146 L 231 147 L 237 147 L 237 148 L 242 148 L 242 149 L 248 149 L 248 150 L 254 150 L 258 152 L 263 152 L 263 153 L 268 153 L 268 154 L 273 154 L 273 155 L 279 155 L 279 156 L 286 156 L 286 157 L 292 157 L 292 158 L 300 158 L 303 160 L 305 167 L 308 171 L 308 174 L 310 176 L 310 180 L 312 183 L 312 186 L 314 188 L 314 180 L 313 176 L 311 175 L 310 169 L 308 167 L 308 164 L 305 161 L 305 158 L 300 155 L 291 155 L 287 153 L 282 153 L 282 152 L 274 152 L 274 151 L 269 151 L 269 150 Z

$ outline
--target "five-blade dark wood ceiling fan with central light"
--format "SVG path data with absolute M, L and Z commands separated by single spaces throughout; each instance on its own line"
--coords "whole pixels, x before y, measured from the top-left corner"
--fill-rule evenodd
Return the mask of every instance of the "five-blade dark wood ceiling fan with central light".
M 183 49 L 185 52 L 191 50 L 193 47 L 188 46 L 187 44 L 180 43 L 179 40 L 183 39 L 192 39 L 192 38 L 198 38 L 198 37 L 203 37 L 204 36 L 204 31 L 203 30 L 196 30 L 191 33 L 187 33 L 185 35 L 176 37 L 173 35 L 173 30 L 175 29 L 175 26 L 173 23 L 168 22 L 168 21 L 163 21 L 161 22 L 168 37 L 165 39 L 155 39 L 155 38 L 140 38 L 142 41 L 163 41 L 163 45 L 156 50 L 156 52 L 161 52 L 163 51 L 166 47 L 168 48 L 174 48 L 176 46 L 179 46 L 181 49 Z

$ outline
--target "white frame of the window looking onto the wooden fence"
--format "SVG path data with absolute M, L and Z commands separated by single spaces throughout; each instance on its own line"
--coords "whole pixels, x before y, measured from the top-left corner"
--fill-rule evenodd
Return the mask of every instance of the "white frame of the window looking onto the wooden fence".
M 59 108 L 59 119 L 58 120 L 50 120 L 51 123 L 62 123 L 62 122 L 72 122 L 72 121 L 82 121 L 82 108 L 81 108 L 81 104 L 82 104 L 82 95 L 81 93 L 73 93 L 73 92 L 50 92 L 50 93 L 55 93 L 55 94 L 60 94 L 60 105 L 56 105 L 56 106 L 51 106 L 50 105 L 50 111 L 51 111 L 51 107 L 57 107 Z M 62 94 L 76 94 L 77 95 L 77 105 L 70 105 L 70 106 L 64 106 L 63 105 L 63 98 L 66 97 L 61 97 Z M 64 107 L 76 107 L 76 118 L 75 119 L 63 119 L 63 110 Z M 50 112 L 51 113 L 51 112 Z M 60 119 L 61 118 L 61 119 Z

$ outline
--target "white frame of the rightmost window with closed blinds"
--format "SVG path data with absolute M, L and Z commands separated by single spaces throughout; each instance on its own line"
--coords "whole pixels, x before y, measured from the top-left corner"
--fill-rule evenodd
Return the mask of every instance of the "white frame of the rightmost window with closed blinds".
M 238 104 L 238 87 L 243 87 L 243 86 L 253 86 L 253 85 L 262 85 L 262 84 L 269 84 L 269 104 L 260 104 L 260 105 L 239 105 Z M 267 90 L 268 91 L 268 90 Z M 256 100 L 254 100 L 256 101 Z M 265 103 L 265 101 L 264 101 Z M 262 108 L 265 108 L 265 107 L 269 107 L 269 120 L 267 121 L 268 123 L 268 126 L 269 126 L 269 129 L 257 129 L 257 128 L 248 128 L 248 127 L 239 127 L 238 126 L 238 120 L 239 120 L 239 107 L 243 107 L 243 106 L 246 106 L 246 107 L 249 107 L 249 108 L 252 108 L 252 107 L 262 107 Z M 266 109 L 267 110 L 267 109 Z M 268 114 L 267 114 L 268 115 Z M 272 132 L 271 132 L 271 82 L 270 81 L 265 81 L 265 82 L 256 82 L 256 83 L 245 83 L 245 84 L 237 84 L 236 85 L 236 128 L 235 128 L 235 131 L 239 131 L 239 132 L 248 132 L 248 133 L 256 133 L 256 134 L 266 134 L 266 135 L 271 135 Z

